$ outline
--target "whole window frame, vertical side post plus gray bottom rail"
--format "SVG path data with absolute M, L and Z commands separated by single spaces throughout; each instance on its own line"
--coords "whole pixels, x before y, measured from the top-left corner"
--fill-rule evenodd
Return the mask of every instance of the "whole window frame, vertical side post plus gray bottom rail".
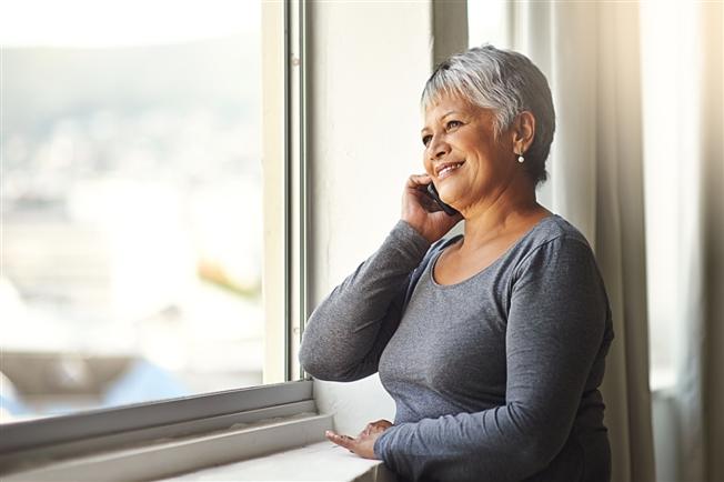
M 304 1 L 262 2 L 265 385 L 2 424 L 3 481 L 158 479 L 332 428 L 295 357 L 309 314 L 305 23 Z

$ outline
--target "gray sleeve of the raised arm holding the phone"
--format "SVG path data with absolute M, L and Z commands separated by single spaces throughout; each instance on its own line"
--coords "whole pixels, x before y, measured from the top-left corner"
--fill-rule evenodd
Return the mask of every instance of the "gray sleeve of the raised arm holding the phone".
M 314 310 L 300 362 L 321 380 L 353 381 L 378 371 L 398 327 L 410 279 L 430 243 L 399 221 L 378 251 Z

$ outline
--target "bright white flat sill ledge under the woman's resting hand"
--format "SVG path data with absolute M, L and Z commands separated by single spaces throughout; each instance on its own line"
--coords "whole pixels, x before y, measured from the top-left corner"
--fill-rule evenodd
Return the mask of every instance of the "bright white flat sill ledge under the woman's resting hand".
M 258 459 L 163 479 L 181 481 L 393 482 L 382 461 L 361 459 L 330 442 L 318 442 Z

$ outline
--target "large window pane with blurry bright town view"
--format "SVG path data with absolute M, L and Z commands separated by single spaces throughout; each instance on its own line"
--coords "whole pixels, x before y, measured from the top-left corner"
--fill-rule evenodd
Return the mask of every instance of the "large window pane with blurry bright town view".
M 3 3 L 2 422 L 262 382 L 260 10 Z

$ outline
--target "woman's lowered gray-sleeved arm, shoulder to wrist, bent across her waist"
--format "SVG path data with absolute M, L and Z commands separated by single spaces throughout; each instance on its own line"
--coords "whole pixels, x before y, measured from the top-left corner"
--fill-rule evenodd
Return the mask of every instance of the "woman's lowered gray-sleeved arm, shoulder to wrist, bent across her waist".
M 513 283 L 505 405 L 391 426 L 374 452 L 395 472 L 522 480 L 561 451 L 602 347 L 605 292 L 589 247 L 562 238 L 529 254 Z

